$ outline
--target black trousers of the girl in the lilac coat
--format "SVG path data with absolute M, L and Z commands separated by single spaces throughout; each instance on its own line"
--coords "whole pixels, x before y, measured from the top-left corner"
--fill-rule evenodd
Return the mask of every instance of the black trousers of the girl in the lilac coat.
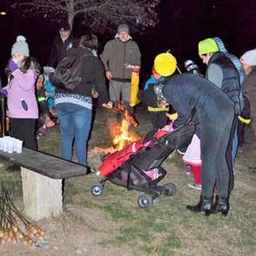
M 24 141 L 24 146 L 37 150 L 36 119 L 10 118 L 10 134 L 14 138 Z

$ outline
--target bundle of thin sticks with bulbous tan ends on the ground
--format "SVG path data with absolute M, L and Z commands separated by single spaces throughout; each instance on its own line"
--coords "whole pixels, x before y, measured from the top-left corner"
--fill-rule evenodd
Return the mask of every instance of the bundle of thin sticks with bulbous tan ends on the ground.
M 14 205 L 10 189 L 0 188 L 0 243 L 35 247 L 37 240 L 44 239 L 41 227 L 31 223 Z

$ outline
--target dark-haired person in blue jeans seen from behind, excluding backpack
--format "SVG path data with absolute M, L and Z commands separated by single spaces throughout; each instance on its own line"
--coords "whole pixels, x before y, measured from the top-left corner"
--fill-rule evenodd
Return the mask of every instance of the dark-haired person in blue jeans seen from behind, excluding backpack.
M 62 158 L 71 160 L 74 141 L 77 160 L 87 165 L 87 142 L 91 131 L 92 98 L 98 98 L 99 104 L 107 104 L 108 91 L 105 86 L 104 69 L 98 57 L 91 52 L 98 47 L 98 38 L 94 35 L 81 37 L 77 48 L 71 49 L 68 56 L 82 61 L 80 83 L 73 90 L 64 84 L 56 85 L 55 107 L 62 135 Z M 111 103 L 108 103 L 111 107 Z

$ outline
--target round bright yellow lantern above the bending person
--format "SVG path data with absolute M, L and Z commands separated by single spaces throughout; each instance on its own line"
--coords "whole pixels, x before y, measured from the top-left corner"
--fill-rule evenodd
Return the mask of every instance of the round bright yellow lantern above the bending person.
M 163 77 L 171 76 L 176 70 L 177 60 L 171 53 L 165 52 L 158 54 L 154 60 L 154 69 Z

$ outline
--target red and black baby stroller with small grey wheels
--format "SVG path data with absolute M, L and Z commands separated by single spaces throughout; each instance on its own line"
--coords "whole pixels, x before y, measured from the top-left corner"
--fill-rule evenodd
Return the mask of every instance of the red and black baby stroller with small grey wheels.
M 138 141 L 120 152 L 107 155 L 99 168 L 104 179 L 92 185 L 91 193 L 102 195 L 104 184 L 109 180 L 127 190 L 145 192 L 138 197 L 138 206 L 144 209 L 150 208 L 153 200 L 161 195 L 174 195 L 177 192 L 176 185 L 158 185 L 166 175 L 160 165 L 175 149 L 189 145 L 194 132 L 195 124 L 188 121 L 160 138 L 154 137 L 149 145 Z

